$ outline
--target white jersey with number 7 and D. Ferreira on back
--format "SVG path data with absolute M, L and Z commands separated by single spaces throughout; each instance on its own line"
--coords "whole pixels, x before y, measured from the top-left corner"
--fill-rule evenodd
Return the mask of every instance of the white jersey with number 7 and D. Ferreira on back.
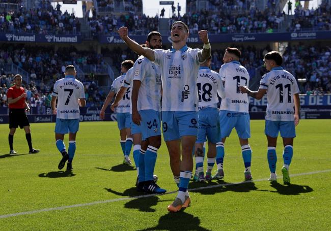
M 78 99 L 85 98 L 84 85 L 74 76 L 66 76 L 55 82 L 53 96 L 58 97 L 57 118 L 79 119 Z

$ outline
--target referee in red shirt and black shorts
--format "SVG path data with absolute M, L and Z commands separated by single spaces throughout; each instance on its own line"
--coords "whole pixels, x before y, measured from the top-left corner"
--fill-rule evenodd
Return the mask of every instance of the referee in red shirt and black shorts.
M 15 85 L 10 87 L 7 91 L 8 98 L 8 107 L 9 107 L 9 135 L 8 141 L 10 146 L 9 154 L 14 155 L 17 152 L 13 148 L 13 140 L 16 128 L 19 126 L 21 129 L 24 128 L 25 138 L 27 144 L 29 145 L 29 153 L 38 153 L 39 149 L 34 149 L 32 147 L 32 139 L 31 139 L 31 130 L 30 123 L 27 120 L 27 116 L 25 111 L 30 111 L 29 105 L 27 105 L 25 101 L 26 93 L 22 85 L 22 76 L 15 75 L 14 77 Z

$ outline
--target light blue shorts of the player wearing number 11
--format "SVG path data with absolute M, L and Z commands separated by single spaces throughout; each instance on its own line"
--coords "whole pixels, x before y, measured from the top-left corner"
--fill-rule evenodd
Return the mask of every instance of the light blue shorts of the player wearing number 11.
M 294 121 L 271 121 L 265 120 L 264 134 L 276 138 L 279 131 L 281 131 L 281 137 L 294 138 L 295 137 L 295 125 Z

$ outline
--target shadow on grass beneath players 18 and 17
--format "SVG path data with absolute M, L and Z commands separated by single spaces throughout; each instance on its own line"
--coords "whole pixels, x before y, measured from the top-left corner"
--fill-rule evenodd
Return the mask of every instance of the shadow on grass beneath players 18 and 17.
M 255 186 L 255 183 L 252 181 L 243 181 L 239 184 L 233 184 L 230 182 L 225 181 L 209 181 L 209 182 L 190 182 L 189 184 L 190 189 L 201 194 L 206 195 L 213 195 L 215 193 L 226 192 L 226 191 L 233 191 L 233 192 L 250 192 L 253 190 L 257 190 L 258 188 Z M 201 188 L 201 189 L 199 189 Z

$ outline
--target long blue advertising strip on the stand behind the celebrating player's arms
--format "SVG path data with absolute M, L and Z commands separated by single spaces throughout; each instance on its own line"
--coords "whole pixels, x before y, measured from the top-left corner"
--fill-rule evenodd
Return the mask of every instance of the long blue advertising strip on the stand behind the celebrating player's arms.
M 164 39 L 164 37 L 166 39 Z M 210 43 L 242 43 L 263 41 L 296 41 L 296 40 L 331 40 L 331 31 L 306 31 L 292 33 L 259 33 L 259 34 L 219 34 L 208 35 Z M 130 36 L 135 42 L 141 44 L 146 42 L 146 36 Z M 171 43 L 170 35 L 163 36 L 163 44 Z M 124 41 L 118 35 L 100 35 L 99 43 L 122 44 Z M 190 35 L 187 43 L 201 43 L 198 35 Z

